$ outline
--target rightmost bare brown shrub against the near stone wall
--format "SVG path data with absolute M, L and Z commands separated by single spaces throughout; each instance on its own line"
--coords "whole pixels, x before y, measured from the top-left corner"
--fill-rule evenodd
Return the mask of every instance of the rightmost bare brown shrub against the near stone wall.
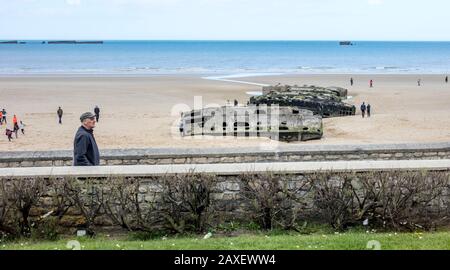
M 383 227 L 431 229 L 447 219 L 449 179 L 445 173 L 380 172 L 371 181 L 378 193 L 373 216 Z

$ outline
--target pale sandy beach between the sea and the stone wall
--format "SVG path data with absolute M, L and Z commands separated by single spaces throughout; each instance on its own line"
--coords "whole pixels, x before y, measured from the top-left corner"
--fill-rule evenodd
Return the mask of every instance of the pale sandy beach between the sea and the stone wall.
M 353 77 L 355 85 L 349 86 Z M 375 87 L 368 87 L 369 79 Z M 417 86 L 417 79 L 422 86 Z M 450 84 L 438 75 L 290 75 L 239 78 L 261 84 L 315 84 L 349 88 L 354 98 L 368 101 L 373 116 L 325 119 L 324 138 L 308 144 L 365 144 L 403 142 L 441 142 L 450 139 Z M 0 151 L 71 149 L 79 115 L 101 108 L 95 130 L 101 148 L 145 147 L 233 147 L 262 146 L 268 139 L 185 138 L 171 125 L 177 104 L 192 107 L 194 96 L 203 104 L 225 104 L 227 99 L 245 103 L 246 92 L 260 87 L 233 82 L 204 80 L 201 76 L 149 77 L 3 77 L 0 78 L 0 107 L 11 120 L 17 114 L 26 135 L 9 143 L 1 127 Z M 57 124 L 56 110 L 64 110 L 63 125 Z M 359 114 L 359 110 L 358 110 Z M 305 143 L 305 142 L 303 142 Z M 301 143 L 300 143 L 301 144 Z

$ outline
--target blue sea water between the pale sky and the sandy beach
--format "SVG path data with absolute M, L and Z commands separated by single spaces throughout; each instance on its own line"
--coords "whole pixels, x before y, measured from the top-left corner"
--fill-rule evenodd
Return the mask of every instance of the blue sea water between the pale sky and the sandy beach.
M 449 73 L 450 42 L 0 44 L 0 74 Z

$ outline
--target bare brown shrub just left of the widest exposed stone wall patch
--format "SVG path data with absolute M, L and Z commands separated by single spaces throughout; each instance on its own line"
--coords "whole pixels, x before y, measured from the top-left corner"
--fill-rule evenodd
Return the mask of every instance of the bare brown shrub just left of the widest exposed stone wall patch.
M 202 232 L 214 214 L 210 195 L 214 177 L 194 172 L 161 179 L 160 215 L 165 227 L 177 233 Z

